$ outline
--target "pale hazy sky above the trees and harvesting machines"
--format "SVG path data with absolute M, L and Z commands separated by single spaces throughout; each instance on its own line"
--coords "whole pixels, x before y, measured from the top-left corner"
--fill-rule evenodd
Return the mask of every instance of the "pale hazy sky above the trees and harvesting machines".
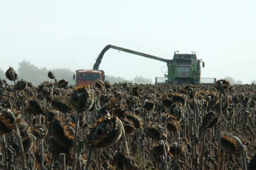
M 172 59 L 195 51 L 202 77 L 256 79 L 253 0 L 0 0 L 0 68 L 92 69 L 112 44 Z M 109 50 L 100 69 L 133 79 L 162 77 L 166 63 Z

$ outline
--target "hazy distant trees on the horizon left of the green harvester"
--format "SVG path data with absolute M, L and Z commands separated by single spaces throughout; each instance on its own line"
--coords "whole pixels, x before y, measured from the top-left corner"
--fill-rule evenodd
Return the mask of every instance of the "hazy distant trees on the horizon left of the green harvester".
M 66 79 L 70 85 L 75 85 L 75 81 L 73 80 L 73 74 L 75 74 L 74 71 L 71 71 L 67 68 L 55 68 L 52 70 L 49 70 L 47 68 L 38 68 L 37 66 L 30 63 L 30 61 L 23 60 L 22 62 L 18 63 L 19 67 L 17 68 L 17 73 L 19 75 L 19 79 L 25 79 L 28 82 L 32 82 L 33 85 L 39 85 L 43 81 L 54 81 L 52 79 L 49 79 L 47 77 L 47 73 L 49 71 L 52 71 L 57 79 Z M 5 71 L 0 68 L 0 78 L 6 79 L 5 77 Z M 108 80 L 109 82 L 118 83 L 118 82 L 132 82 L 132 83 L 138 83 L 138 84 L 152 84 L 151 79 L 146 79 L 143 77 L 135 77 L 134 79 L 127 80 L 122 77 L 114 77 L 114 76 L 108 76 L 106 75 L 105 80 Z M 8 83 L 12 84 L 12 82 Z

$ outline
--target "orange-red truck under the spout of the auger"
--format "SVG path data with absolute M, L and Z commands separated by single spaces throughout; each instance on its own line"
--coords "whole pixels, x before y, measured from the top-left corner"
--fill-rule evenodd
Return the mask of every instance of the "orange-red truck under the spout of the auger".
M 105 81 L 105 72 L 103 70 L 76 70 L 76 75 L 73 75 L 78 85 L 93 85 L 96 81 Z

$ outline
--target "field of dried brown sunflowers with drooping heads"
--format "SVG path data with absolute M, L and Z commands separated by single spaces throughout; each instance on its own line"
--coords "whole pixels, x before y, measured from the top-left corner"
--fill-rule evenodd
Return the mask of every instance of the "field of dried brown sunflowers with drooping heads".
M 48 77 L 0 79 L 0 169 L 256 170 L 256 85 Z

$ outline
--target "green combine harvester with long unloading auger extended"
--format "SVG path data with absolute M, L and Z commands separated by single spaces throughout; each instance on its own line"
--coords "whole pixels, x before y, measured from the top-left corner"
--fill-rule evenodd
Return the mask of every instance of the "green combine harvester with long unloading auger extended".
M 192 54 L 179 54 L 179 51 L 175 51 L 173 59 L 164 59 L 161 57 L 156 57 L 153 55 L 141 53 L 138 51 L 130 50 L 127 48 L 118 47 L 115 45 L 107 45 L 101 53 L 99 57 L 96 59 L 95 64 L 93 65 L 93 70 L 99 70 L 99 65 L 106 51 L 110 48 L 113 48 L 118 51 L 124 51 L 127 53 L 147 57 L 150 59 L 156 59 L 162 62 L 167 63 L 167 75 L 165 77 L 156 77 L 156 83 L 160 82 L 169 82 L 169 83 L 192 83 L 199 84 L 201 83 L 201 63 L 204 67 L 204 62 L 202 59 L 197 59 L 195 52 Z M 214 78 L 205 78 L 210 79 L 210 82 L 214 82 Z M 160 81 L 159 81 L 160 80 Z

